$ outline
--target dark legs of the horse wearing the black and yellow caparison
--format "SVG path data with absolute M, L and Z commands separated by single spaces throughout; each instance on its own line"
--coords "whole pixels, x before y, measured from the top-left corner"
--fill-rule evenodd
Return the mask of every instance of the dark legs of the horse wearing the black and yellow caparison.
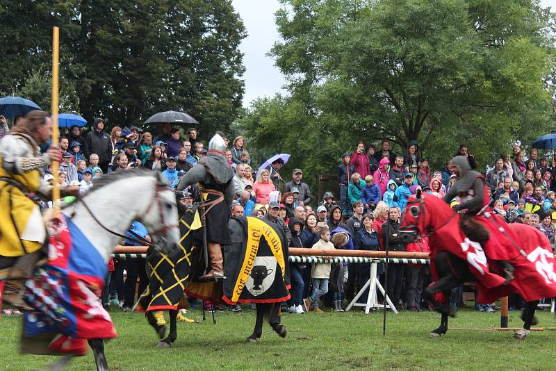
M 261 338 L 261 335 L 263 334 L 263 320 L 265 315 L 268 316 L 268 323 L 270 324 L 270 327 L 272 327 L 272 329 L 276 331 L 279 336 L 285 338 L 286 334 L 288 333 L 288 329 L 286 328 L 286 326 L 284 326 L 284 324 L 280 323 L 280 303 L 257 303 L 255 305 L 255 328 L 253 330 L 253 333 L 247 338 L 247 343 L 254 343 L 257 339 Z M 166 333 L 166 326 L 156 324 L 154 313 L 152 311 L 147 312 L 147 321 L 154 328 L 154 331 L 156 331 L 158 337 L 161 338 L 161 341 L 158 343 L 158 345 L 156 345 L 157 347 L 171 347 L 172 343 L 174 343 L 178 336 L 176 326 L 178 311 L 170 310 L 168 311 L 168 313 L 170 314 L 170 333 L 168 333 L 168 336 L 164 338 L 164 335 Z

